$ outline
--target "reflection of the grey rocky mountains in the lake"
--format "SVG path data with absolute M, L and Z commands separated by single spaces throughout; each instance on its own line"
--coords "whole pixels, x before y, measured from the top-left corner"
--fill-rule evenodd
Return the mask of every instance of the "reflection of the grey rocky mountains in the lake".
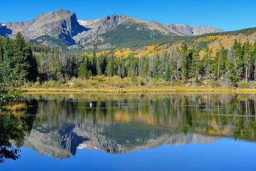
M 100 130 L 104 127 L 94 127 L 92 123 L 83 125 L 67 124 L 57 131 L 49 124 L 38 125 L 32 129 L 30 135 L 25 137 L 23 146 L 34 149 L 36 152 L 62 159 L 75 156 L 77 149 L 97 149 L 107 153 L 129 153 L 145 148 L 155 148 L 163 144 L 181 145 L 196 143 L 212 143 L 219 137 L 208 137 L 188 133 L 161 133 L 155 135 L 150 131 L 145 139 L 143 136 L 132 136 L 130 140 L 119 141 L 115 137 L 104 135 Z M 115 134 L 118 134 L 116 130 Z M 125 136 L 125 135 L 124 135 Z M 127 137 L 129 137 L 127 135 Z M 131 141 L 131 142 L 130 142 Z M 15 145 L 14 141 L 11 142 Z

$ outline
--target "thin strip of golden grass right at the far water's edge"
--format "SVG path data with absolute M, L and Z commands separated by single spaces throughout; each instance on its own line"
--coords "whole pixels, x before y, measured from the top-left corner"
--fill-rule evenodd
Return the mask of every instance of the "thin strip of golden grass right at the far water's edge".
M 91 87 L 91 88 L 22 88 L 25 92 L 81 92 L 81 93 L 179 93 L 179 92 L 255 92 L 256 88 L 206 88 L 206 87 Z

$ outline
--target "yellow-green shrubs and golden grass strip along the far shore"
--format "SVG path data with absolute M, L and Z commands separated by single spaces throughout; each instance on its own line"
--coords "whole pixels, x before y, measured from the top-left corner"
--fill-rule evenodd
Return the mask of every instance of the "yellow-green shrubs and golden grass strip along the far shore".
M 203 77 L 186 82 L 166 82 L 161 78 L 120 78 L 119 76 L 91 76 L 88 79 L 71 78 L 67 82 L 50 80 L 46 82 L 25 83 L 21 89 L 25 92 L 256 92 L 256 82 L 238 82 L 238 87 Z

